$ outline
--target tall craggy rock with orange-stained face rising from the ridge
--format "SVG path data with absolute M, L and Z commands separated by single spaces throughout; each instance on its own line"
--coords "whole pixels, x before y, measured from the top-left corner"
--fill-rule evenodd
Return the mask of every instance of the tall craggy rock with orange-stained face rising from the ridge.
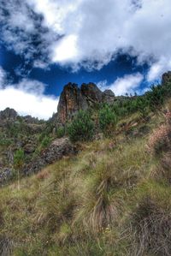
M 86 110 L 97 103 L 111 103 L 114 100 L 115 94 L 112 91 L 101 92 L 93 83 L 82 84 L 80 87 L 68 83 L 63 88 L 57 114 L 54 117 L 59 123 L 64 124 L 67 120 L 71 120 L 79 110 Z

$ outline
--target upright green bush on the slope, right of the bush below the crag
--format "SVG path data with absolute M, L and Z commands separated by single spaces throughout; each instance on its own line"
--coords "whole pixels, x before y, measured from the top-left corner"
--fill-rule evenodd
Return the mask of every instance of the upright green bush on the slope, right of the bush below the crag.
M 99 111 L 99 125 L 104 135 L 109 137 L 115 134 L 116 122 L 115 111 L 112 111 L 108 105 Z

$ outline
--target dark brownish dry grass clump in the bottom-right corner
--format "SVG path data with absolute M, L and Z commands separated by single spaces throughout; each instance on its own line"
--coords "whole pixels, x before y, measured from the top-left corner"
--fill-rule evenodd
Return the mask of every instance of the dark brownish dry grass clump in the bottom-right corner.
M 139 204 L 133 215 L 133 254 L 171 255 L 171 215 L 150 198 Z

